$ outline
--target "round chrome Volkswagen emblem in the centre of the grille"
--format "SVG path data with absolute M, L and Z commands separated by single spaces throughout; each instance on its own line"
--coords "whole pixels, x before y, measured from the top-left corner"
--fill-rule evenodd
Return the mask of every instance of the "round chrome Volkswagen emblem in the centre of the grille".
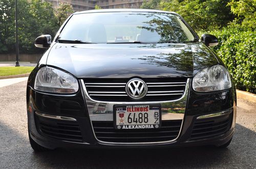
M 133 99 L 141 99 L 146 95 L 146 83 L 140 79 L 132 79 L 125 86 L 126 93 Z

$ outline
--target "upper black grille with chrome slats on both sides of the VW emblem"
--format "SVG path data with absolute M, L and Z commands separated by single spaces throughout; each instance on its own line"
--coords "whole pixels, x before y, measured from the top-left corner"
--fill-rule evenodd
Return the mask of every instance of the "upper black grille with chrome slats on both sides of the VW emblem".
M 104 102 L 134 102 L 125 92 L 130 79 L 84 79 L 87 92 L 93 100 Z M 172 101 L 182 97 L 187 78 L 142 79 L 148 91 L 141 102 Z

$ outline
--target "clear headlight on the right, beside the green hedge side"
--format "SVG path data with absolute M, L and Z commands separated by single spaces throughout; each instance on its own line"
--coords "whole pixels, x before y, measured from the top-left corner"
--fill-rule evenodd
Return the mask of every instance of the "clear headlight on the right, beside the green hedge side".
M 193 79 L 193 89 L 200 92 L 218 91 L 231 87 L 228 70 L 222 65 L 205 68 Z

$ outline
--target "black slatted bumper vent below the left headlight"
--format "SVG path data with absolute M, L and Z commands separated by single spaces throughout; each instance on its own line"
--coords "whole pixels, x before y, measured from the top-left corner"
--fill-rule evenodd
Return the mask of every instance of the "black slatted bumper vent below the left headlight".
M 58 140 L 82 142 L 82 134 L 77 122 L 35 116 L 37 130 L 47 137 Z

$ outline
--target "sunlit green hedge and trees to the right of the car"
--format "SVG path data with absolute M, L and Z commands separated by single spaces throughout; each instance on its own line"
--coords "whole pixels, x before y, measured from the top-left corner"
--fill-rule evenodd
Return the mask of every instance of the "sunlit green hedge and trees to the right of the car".
M 256 0 L 150 0 L 141 8 L 174 11 L 198 33 L 216 35 L 213 50 L 238 89 L 256 93 Z

